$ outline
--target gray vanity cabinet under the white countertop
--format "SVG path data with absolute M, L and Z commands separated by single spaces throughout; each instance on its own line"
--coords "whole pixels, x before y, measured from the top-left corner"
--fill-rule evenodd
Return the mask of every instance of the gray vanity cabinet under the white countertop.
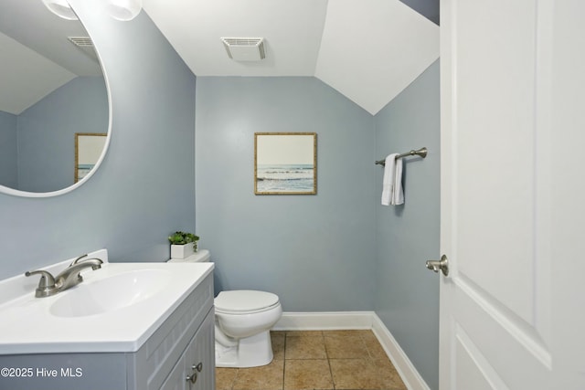
M 0 367 L 15 367 L 19 374 L 0 376 L 0 389 L 214 389 L 214 330 L 213 274 L 209 273 L 138 351 L 0 355 Z M 193 380 L 187 381 L 187 376 Z

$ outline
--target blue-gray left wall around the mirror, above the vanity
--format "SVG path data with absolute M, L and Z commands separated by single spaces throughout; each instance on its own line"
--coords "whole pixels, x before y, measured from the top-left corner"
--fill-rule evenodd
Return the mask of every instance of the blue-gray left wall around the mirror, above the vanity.
M 168 234 L 195 229 L 195 76 L 145 13 L 124 23 L 99 0 L 69 3 L 110 80 L 112 144 L 69 194 L 0 195 L 0 279 L 97 248 L 164 260 Z

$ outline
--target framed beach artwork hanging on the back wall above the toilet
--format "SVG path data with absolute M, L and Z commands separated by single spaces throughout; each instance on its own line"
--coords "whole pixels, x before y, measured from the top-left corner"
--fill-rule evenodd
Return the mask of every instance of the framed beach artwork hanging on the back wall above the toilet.
M 316 193 L 316 132 L 254 133 L 254 194 Z

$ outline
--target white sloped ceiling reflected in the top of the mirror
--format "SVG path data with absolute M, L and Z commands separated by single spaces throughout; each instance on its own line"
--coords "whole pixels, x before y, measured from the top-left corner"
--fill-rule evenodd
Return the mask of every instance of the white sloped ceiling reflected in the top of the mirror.
M 101 76 L 95 53 L 68 39 L 87 36 L 40 0 L 0 0 L 0 111 L 18 115 L 71 79 Z

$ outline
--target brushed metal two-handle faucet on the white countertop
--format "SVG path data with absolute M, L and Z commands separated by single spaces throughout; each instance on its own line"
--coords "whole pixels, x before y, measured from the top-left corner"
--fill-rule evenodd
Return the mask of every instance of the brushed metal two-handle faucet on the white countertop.
M 38 281 L 38 287 L 35 291 L 35 297 L 50 297 L 58 292 L 68 290 L 73 286 L 77 286 L 83 281 L 80 272 L 83 269 L 101 269 L 101 258 L 85 258 L 88 255 L 80 256 L 73 260 L 69 267 L 60 272 L 56 277 L 45 270 L 27 271 L 25 276 L 40 274 L 40 280 Z M 83 259 L 82 259 L 83 258 Z

